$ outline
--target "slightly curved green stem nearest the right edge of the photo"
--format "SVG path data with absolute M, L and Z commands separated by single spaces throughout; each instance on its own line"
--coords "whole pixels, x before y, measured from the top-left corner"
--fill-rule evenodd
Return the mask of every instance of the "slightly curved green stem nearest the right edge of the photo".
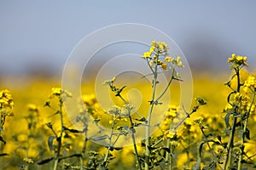
M 244 152 L 245 133 L 247 131 L 247 123 L 248 123 L 248 119 L 249 119 L 249 116 L 250 116 L 250 112 L 252 110 L 254 98 L 255 98 L 255 93 L 253 93 L 253 98 L 252 98 L 251 103 L 250 103 L 250 108 L 247 112 L 247 117 L 246 117 L 246 120 L 244 122 L 243 132 L 242 132 L 242 135 L 241 135 L 241 153 L 240 153 L 239 161 L 238 161 L 238 170 L 241 170 L 242 155 L 243 155 L 243 152 Z

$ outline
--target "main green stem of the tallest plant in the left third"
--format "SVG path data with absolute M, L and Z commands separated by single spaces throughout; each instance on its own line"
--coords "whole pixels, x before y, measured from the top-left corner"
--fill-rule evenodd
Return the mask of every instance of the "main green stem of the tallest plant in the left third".
M 63 125 L 63 115 L 62 115 L 62 105 L 63 105 L 63 101 L 60 99 L 60 120 L 61 120 L 61 134 L 60 136 L 56 136 L 57 138 L 57 142 L 58 142 L 58 148 L 57 148 L 57 153 L 56 153 L 56 157 L 55 157 L 55 166 L 53 170 L 57 170 L 58 169 L 58 163 L 59 163 L 59 159 L 60 159 L 60 154 L 61 154 L 61 139 L 62 139 L 62 134 L 63 134 L 63 129 L 64 129 L 64 125 Z

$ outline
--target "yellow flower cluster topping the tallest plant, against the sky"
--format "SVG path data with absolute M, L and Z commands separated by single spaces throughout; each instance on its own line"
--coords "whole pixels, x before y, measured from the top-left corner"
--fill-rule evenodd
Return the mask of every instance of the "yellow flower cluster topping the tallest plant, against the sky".
M 160 65 L 163 70 L 166 70 L 168 64 L 177 67 L 184 67 L 180 56 L 173 58 L 168 54 L 168 45 L 165 42 L 151 42 L 151 47 L 148 52 L 145 52 L 142 56 L 143 59 L 147 59 L 148 65 L 150 67 L 155 67 Z M 170 68 L 170 66 L 169 66 Z

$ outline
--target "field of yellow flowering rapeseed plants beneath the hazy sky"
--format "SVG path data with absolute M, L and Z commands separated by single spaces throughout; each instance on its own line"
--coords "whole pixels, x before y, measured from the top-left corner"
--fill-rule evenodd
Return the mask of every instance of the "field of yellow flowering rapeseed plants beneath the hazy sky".
M 176 71 L 183 63 L 167 49 L 153 41 L 143 54 L 152 81 L 86 80 L 81 95 L 44 78 L 3 83 L 0 169 L 255 167 L 256 77 L 244 69 L 247 57 L 232 54 L 232 71 L 219 77 L 194 73 L 189 97 Z M 161 71 L 172 75 L 166 84 Z

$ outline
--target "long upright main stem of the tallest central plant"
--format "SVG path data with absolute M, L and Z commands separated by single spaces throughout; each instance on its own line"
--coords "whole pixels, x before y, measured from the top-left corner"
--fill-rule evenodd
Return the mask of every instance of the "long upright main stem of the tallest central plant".
M 151 67 L 150 67 L 151 68 Z M 154 95 L 155 95 L 155 90 L 156 90 L 156 83 L 157 83 L 157 65 L 154 67 L 154 79 L 153 79 L 153 91 L 152 91 L 152 96 L 150 100 L 150 106 L 148 109 L 148 118 L 147 118 L 147 126 L 146 126 L 146 153 L 145 153 L 145 170 L 149 169 L 149 156 L 150 156 L 150 150 L 149 150 L 149 134 L 150 134 L 150 119 L 151 119 L 151 114 L 154 108 Z

